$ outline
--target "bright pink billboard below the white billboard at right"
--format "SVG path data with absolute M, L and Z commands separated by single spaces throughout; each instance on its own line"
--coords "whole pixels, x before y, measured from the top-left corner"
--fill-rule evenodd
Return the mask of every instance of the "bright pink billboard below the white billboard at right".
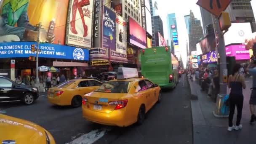
M 236 60 L 250 59 L 250 51 L 245 49 L 245 45 L 229 45 L 226 47 L 227 56 L 235 56 Z

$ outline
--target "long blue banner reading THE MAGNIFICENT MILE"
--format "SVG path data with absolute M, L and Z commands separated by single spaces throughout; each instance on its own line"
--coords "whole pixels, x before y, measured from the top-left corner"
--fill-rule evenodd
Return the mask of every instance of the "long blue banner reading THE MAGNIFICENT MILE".
M 0 43 L 1 58 L 28 58 L 36 56 L 36 53 L 31 51 L 31 45 L 35 42 L 9 42 Z M 72 60 L 89 60 L 89 51 L 84 48 L 75 48 L 66 45 L 58 45 L 51 43 L 39 44 L 40 58 L 53 59 L 72 59 Z

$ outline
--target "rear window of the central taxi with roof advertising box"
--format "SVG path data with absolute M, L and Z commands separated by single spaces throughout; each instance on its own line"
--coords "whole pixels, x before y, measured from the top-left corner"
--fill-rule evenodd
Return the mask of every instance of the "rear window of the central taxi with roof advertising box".
M 95 92 L 101 93 L 128 93 L 132 81 L 111 81 L 104 83 Z

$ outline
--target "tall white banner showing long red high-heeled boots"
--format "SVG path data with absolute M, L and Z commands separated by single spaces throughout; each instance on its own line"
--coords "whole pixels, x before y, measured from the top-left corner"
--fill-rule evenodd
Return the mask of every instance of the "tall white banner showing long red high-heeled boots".
M 83 5 L 83 6 L 82 6 Z M 93 0 L 69 0 L 66 44 L 91 48 Z

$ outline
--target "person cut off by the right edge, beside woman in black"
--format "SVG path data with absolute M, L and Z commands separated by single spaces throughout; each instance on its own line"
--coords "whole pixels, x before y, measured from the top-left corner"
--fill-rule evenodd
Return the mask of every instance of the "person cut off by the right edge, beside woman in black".
M 255 117 L 255 106 L 256 106 L 256 61 L 253 62 L 253 64 L 250 64 L 246 71 L 248 71 L 250 73 L 250 75 L 253 76 L 253 87 L 251 88 L 251 97 L 250 97 L 250 110 L 251 110 L 251 120 L 250 123 L 253 123 L 254 121 L 256 121 L 256 117 Z

